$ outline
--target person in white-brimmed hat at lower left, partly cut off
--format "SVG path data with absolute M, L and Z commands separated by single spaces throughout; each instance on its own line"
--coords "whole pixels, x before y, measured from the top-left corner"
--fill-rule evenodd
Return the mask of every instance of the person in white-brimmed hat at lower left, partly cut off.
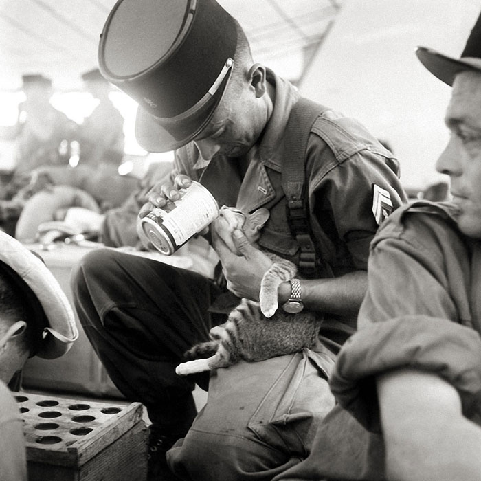
M 29 357 L 54 359 L 77 339 L 74 313 L 53 274 L 0 231 L 0 479 L 27 479 L 23 421 L 8 390 Z

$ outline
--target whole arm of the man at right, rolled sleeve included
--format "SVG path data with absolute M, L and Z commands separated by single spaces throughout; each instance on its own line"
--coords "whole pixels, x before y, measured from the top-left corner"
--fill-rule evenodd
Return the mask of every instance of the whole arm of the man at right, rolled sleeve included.
M 462 325 L 473 312 L 463 290 L 469 259 L 440 219 L 405 216 L 402 233 L 393 223 L 392 235 L 388 227 L 374 240 L 359 331 L 337 362 L 353 380 L 344 405 L 359 402 L 352 412 L 371 426 L 376 379 L 390 481 L 481 480 L 481 427 L 467 417 L 479 404 L 481 342 Z

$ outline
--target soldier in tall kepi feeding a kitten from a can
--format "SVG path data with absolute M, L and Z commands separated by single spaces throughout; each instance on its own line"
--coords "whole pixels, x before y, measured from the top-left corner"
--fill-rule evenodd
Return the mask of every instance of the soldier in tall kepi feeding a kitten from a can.
M 169 454 L 182 478 L 270 480 L 306 456 L 313 425 L 333 405 L 326 377 L 355 329 L 370 240 L 406 200 L 396 159 L 363 126 L 254 63 L 242 28 L 214 0 L 118 1 L 99 60 L 102 74 L 139 102 L 139 143 L 176 150 L 175 171 L 152 190 L 141 216 L 169 208 L 192 181 L 219 205 L 269 209 L 260 246 L 296 262 L 303 276 L 280 285 L 280 309 L 324 319 L 309 362 L 292 355 L 219 370 L 198 429 Z M 238 298 L 258 300 L 271 265 L 237 234 L 243 256 L 213 238 L 227 282 L 107 249 L 86 256 L 72 277 L 78 315 L 104 366 L 128 399 L 148 409 L 151 479 L 168 476 L 165 453 L 197 414 L 194 382 L 209 382 L 178 377 L 175 366 Z M 291 371 L 301 362 L 305 370 Z M 287 374 L 299 382 L 290 401 Z M 249 426 L 261 412 L 265 436 Z M 277 416 L 282 430 L 270 423 Z

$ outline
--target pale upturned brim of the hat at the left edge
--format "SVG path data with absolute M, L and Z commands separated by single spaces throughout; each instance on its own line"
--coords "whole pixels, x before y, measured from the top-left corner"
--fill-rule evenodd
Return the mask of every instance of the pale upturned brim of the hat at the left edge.
M 60 284 L 45 264 L 18 240 L 0 231 L 0 260 L 9 265 L 32 289 L 49 325 L 36 356 L 55 359 L 67 353 L 78 338 L 74 311 Z

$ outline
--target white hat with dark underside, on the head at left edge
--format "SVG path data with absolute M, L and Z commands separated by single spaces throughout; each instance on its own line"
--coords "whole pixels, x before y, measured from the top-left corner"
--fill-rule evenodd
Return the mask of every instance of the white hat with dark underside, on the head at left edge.
M 25 322 L 36 337 L 34 355 L 54 359 L 67 353 L 78 338 L 78 329 L 74 311 L 52 272 L 40 258 L 3 231 L 0 231 L 0 269 L 25 295 L 25 305 L 31 314 Z

